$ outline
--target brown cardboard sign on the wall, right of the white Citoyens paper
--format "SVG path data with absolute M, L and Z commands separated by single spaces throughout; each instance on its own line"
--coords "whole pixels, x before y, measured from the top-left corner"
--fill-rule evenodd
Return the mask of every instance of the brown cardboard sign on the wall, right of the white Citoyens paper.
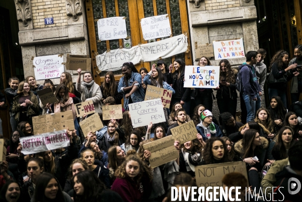
M 67 53 L 66 70 L 78 69 L 91 71 L 91 58 L 89 58 L 89 55 L 70 55 Z

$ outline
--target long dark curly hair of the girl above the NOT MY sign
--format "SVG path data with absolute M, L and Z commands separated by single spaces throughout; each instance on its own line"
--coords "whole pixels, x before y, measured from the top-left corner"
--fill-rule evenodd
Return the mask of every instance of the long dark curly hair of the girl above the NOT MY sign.
M 220 163 L 230 162 L 229 153 L 227 152 L 228 150 L 226 150 L 226 146 L 225 146 L 225 143 L 223 142 L 223 140 L 221 140 L 220 138 L 217 138 L 217 137 L 213 137 L 206 141 L 206 145 L 202 152 L 202 157 L 203 157 L 205 164 L 217 163 L 213 157 L 213 152 L 212 152 L 213 143 L 215 141 L 220 141 L 223 145 L 223 150 L 224 150 L 223 157 L 219 162 Z

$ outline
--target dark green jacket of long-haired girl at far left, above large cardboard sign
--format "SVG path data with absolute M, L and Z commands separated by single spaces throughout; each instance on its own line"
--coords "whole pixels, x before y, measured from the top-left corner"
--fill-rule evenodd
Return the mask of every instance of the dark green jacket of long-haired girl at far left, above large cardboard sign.
M 17 121 L 19 121 L 19 117 L 20 117 L 20 104 L 19 104 L 19 98 L 21 96 L 21 93 L 19 95 L 17 95 L 16 97 L 14 97 L 14 101 L 13 101 L 13 108 L 12 108 L 12 112 L 15 113 L 15 119 Z M 40 111 L 40 107 L 38 104 L 38 99 L 37 96 L 35 96 L 35 94 L 33 94 L 32 92 L 29 92 L 29 96 L 30 96 L 30 101 L 33 103 L 32 106 L 28 106 L 27 108 L 27 116 L 30 115 L 39 115 L 39 111 Z

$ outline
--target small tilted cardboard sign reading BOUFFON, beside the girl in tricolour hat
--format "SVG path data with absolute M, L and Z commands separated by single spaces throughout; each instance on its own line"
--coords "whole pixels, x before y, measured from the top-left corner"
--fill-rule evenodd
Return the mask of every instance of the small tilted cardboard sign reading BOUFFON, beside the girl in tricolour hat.
M 180 144 L 184 144 L 190 140 L 196 139 L 196 134 L 198 133 L 192 120 L 177 127 L 171 128 L 171 132 L 174 139 L 179 141 Z

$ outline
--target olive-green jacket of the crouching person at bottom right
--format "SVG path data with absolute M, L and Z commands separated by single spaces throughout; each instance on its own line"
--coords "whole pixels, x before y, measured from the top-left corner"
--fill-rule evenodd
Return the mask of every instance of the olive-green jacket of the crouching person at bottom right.
M 274 183 L 276 182 L 276 178 L 275 178 L 276 173 L 282 171 L 284 166 L 287 165 L 289 165 L 288 158 L 275 161 L 271 165 L 270 169 L 267 171 L 266 175 L 261 181 L 263 193 L 265 189 L 266 189 L 266 193 L 272 193 Z

